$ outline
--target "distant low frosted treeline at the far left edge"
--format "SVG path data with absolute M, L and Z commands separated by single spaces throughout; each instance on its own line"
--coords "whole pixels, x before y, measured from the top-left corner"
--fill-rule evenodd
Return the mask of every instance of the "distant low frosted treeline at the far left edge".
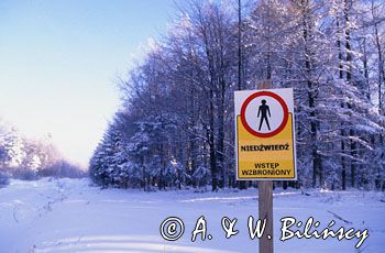
M 45 176 L 82 177 L 86 173 L 65 161 L 50 136 L 26 139 L 0 119 L 0 185 L 9 177 L 32 180 Z

